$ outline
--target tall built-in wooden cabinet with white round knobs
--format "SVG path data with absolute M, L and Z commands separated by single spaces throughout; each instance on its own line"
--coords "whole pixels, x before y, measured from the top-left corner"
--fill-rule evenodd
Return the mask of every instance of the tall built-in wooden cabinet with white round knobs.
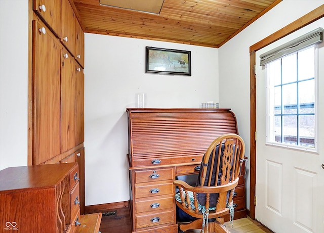
M 84 177 L 84 32 L 73 9 L 69 0 L 29 0 L 28 165 L 77 162 Z M 83 214 L 84 179 L 79 190 Z

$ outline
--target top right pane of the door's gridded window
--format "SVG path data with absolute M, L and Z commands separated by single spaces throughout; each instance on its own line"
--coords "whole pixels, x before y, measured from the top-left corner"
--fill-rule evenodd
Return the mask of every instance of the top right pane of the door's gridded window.
M 298 53 L 298 80 L 314 77 L 314 47 Z

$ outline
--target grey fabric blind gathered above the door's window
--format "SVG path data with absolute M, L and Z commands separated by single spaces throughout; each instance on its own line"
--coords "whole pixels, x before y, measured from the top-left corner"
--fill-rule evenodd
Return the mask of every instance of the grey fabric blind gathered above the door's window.
M 323 28 L 319 27 L 292 41 L 282 44 L 273 50 L 261 54 L 260 66 L 264 66 L 265 64 L 272 62 L 278 58 L 295 53 L 301 49 L 304 49 L 315 43 L 320 43 L 322 41 L 323 41 Z

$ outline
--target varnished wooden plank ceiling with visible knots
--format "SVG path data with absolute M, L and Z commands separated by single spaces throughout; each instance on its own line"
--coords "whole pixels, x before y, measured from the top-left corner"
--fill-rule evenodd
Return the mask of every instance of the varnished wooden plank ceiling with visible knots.
M 164 0 L 159 14 L 73 3 L 85 32 L 219 48 L 281 1 Z

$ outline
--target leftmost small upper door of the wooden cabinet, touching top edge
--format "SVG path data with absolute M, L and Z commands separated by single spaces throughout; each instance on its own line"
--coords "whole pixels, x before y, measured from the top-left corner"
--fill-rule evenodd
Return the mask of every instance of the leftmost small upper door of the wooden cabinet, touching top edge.
M 34 0 L 33 9 L 59 37 L 61 35 L 61 1 Z

